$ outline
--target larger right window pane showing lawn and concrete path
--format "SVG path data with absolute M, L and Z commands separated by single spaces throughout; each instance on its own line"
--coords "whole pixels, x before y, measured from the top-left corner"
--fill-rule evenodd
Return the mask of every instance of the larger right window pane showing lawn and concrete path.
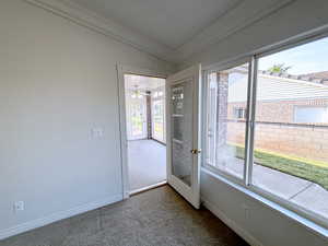
M 253 184 L 328 219 L 328 38 L 258 68 Z

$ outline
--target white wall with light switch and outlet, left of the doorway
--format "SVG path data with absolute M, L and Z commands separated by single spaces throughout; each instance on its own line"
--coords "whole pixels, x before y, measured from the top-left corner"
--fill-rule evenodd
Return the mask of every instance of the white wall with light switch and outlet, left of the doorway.
M 168 65 L 22 0 L 0 33 L 0 237 L 121 199 L 116 62 Z

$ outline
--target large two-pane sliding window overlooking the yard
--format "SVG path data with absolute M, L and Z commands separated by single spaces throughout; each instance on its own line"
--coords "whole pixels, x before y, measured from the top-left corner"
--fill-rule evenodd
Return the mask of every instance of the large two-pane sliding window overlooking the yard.
M 327 226 L 328 38 L 207 74 L 206 165 Z

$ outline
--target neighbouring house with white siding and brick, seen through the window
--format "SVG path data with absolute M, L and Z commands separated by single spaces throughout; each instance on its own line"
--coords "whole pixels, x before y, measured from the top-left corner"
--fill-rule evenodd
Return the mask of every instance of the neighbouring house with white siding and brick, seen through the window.
M 318 74 L 327 74 L 321 72 Z M 314 74 L 313 74 L 314 75 Z M 227 118 L 246 118 L 247 74 L 245 69 L 230 74 Z M 327 79 L 312 79 L 308 75 L 259 71 L 257 87 L 256 120 L 263 122 L 320 124 L 328 125 Z

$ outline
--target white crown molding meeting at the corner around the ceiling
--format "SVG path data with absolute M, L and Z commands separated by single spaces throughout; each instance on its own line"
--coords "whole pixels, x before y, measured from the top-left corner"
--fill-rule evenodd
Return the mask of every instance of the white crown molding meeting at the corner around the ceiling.
M 130 45 L 138 50 L 172 63 L 184 63 L 188 58 L 202 51 L 206 47 L 219 44 L 229 36 L 267 17 L 271 13 L 289 5 L 295 0 L 280 0 L 271 4 L 251 3 L 243 0 L 235 8 L 220 16 L 210 26 L 190 38 L 176 49 L 144 36 L 131 28 L 120 25 L 94 11 L 87 10 L 70 0 L 23 0 L 56 15 L 65 17 L 79 25 L 112 37 L 120 43 Z M 245 12 L 248 12 L 245 15 Z M 243 19 L 241 19 L 243 16 Z

